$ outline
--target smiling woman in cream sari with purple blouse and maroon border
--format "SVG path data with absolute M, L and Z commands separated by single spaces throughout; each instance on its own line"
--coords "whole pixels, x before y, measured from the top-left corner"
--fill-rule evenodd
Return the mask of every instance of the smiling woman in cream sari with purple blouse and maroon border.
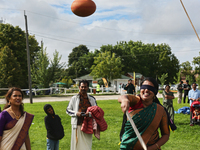
M 0 113 L 0 150 L 31 150 L 28 130 L 33 115 L 24 112 L 21 89 L 13 87 L 6 94 Z

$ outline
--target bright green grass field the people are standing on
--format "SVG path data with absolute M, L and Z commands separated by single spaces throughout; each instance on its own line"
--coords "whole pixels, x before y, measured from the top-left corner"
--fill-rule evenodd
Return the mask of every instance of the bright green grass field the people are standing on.
M 120 104 L 117 100 L 97 101 L 97 103 L 104 110 L 104 118 L 108 123 L 108 129 L 105 132 L 101 132 L 100 140 L 93 137 L 92 149 L 118 150 L 119 132 L 123 116 Z M 43 110 L 45 104 L 46 103 L 25 104 L 25 110 L 35 115 L 33 124 L 29 130 L 33 150 L 46 149 L 46 129 L 44 125 L 44 117 L 46 114 Z M 60 149 L 69 150 L 71 120 L 65 112 L 68 102 L 50 102 L 50 104 L 54 107 L 56 114 L 61 117 L 65 129 L 65 137 L 60 141 Z M 178 110 L 183 106 L 189 106 L 189 104 L 177 104 L 177 99 L 174 100 L 175 110 Z M 2 107 L 3 106 L 1 105 L 1 108 Z M 170 139 L 162 146 L 162 150 L 199 149 L 198 139 L 200 135 L 200 126 L 189 126 L 189 115 L 184 114 L 175 114 L 175 123 L 178 129 L 175 132 L 171 132 Z

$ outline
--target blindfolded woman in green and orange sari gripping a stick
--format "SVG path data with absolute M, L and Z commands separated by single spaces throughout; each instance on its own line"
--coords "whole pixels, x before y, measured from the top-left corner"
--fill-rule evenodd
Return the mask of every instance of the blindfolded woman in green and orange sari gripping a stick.
M 148 77 L 141 84 L 140 96 L 122 95 L 118 98 L 122 111 L 129 111 L 148 150 L 160 150 L 160 147 L 168 141 L 170 135 L 165 109 L 153 102 L 157 99 L 157 92 L 157 82 Z M 161 137 L 159 137 L 158 128 L 161 130 Z M 120 149 L 143 149 L 130 121 L 125 123 Z

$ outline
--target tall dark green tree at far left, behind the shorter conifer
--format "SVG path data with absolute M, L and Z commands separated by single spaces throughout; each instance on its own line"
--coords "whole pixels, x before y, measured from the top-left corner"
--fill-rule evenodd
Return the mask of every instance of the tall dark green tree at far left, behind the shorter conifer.
M 34 36 L 29 35 L 29 48 L 31 64 L 35 62 L 35 56 L 40 50 L 38 42 Z M 18 26 L 14 27 L 10 24 L 0 24 L 0 49 L 7 46 L 12 50 L 13 57 L 16 58 L 16 62 L 21 67 L 21 76 L 23 82 L 18 85 L 21 88 L 28 87 L 28 69 L 27 69 L 27 51 L 26 51 L 26 37 L 25 32 Z M 10 67 L 15 64 L 10 63 Z M 8 85 L 5 85 L 8 86 Z

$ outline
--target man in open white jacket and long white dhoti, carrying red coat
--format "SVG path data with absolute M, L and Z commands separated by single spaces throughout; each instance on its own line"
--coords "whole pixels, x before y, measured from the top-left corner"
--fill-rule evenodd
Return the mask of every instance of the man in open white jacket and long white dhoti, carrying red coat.
M 74 95 L 68 106 L 66 113 L 71 116 L 71 150 L 91 150 L 92 134 L 81 131 L 84 117 L 92 117 L 90 112 L 86 112 L 90 106 L 96 106 L 96 99 L 87 94 L 89 82 L 82 80 L 79 82 L 79 93 Z

